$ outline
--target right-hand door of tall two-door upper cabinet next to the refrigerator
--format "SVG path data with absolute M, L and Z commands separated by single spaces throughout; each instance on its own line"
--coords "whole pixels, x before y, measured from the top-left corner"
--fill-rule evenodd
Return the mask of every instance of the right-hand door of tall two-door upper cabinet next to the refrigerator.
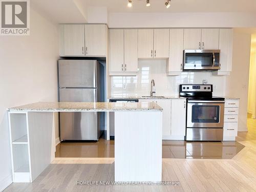
M 138 29 L 124 29 L 124 71 L 137 72 Z

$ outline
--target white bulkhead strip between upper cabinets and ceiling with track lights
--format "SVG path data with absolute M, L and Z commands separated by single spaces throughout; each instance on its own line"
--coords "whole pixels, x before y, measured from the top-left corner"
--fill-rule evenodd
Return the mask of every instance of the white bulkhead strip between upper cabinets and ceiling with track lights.
M 210 5 L 209 5 L 210 6 Z M 255 27 L 256 13 L 109 13 L 110 28 Z

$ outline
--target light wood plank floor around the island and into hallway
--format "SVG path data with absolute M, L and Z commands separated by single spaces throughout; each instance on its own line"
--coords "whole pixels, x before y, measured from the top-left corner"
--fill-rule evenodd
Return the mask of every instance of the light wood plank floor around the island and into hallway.
M 113 181 L 113 158 L 56 158 L 33 183 L 14 183 L 5 191 L 256 191 L 256 120 L 237 140 L 245 145 L 232 159 L 163 159 L 163 181 L 180 185 L 77 185 Z

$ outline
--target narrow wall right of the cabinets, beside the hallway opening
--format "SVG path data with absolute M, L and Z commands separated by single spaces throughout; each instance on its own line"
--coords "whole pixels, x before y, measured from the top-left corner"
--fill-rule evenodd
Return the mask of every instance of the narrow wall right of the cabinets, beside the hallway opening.
M 232 72 L 226 78 L 226 95 L 240 98 L 238 131 L 247 131 L 247 102 L 249 86 L 251 34 L 233 31 Z

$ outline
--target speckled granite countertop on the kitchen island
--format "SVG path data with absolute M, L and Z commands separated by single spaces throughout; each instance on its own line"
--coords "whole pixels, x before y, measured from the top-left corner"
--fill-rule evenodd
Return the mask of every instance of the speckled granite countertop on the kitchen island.
M 9 108 L 9 111 L 162 111 L 155 102 L 36 102 Z

